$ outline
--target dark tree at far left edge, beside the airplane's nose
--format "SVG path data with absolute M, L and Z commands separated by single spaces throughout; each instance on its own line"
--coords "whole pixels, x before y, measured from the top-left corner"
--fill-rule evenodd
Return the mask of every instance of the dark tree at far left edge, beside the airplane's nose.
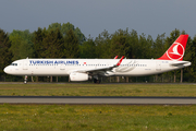
M 9 50 L 11 47 L 11 41 L 2 29 L 0 29 L 0 73 L 3 73 L 4 67 L 11 63 L 12 52 Z

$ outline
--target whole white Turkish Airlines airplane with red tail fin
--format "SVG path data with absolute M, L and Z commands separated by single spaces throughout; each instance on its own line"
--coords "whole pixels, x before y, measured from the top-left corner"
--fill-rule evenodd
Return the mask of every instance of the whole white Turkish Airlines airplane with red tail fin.
M 183 61 L 188 35 L 180 35 L 162 57 L 158 59 L 21 59 L 4 68 L 12 75 L 70 76 L 73 82 L 94 80 L 101 76 L 143 76 L 159 74 L 191 66 Z

